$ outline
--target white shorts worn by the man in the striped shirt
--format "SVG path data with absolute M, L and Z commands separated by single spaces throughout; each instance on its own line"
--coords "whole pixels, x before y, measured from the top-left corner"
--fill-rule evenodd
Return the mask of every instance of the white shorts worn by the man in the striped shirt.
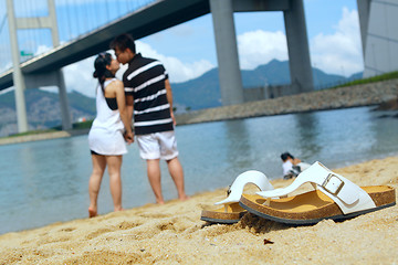
M 136 136 L 139 156 L 147 159 L 171 160 L 178 156 L 174 130 Z

